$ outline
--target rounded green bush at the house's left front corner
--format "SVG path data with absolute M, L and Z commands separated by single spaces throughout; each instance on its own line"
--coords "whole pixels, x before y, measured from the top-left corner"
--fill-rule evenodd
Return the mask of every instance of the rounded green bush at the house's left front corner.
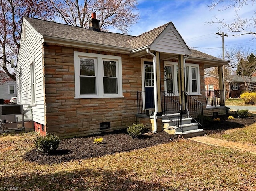
M 37 136 L 35 140 L 36 148 L 44 153 L 51 153 L 55 151 L 60 143 L 60 138 L 54 134 L 47 134 L 46 136 Z

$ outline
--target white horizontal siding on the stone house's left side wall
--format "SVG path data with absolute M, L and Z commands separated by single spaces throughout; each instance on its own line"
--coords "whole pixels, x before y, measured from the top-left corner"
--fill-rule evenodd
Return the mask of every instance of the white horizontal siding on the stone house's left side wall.
M 18 103 L 23 104 L 23 108 L 31 105 L 31 77 L 30 64 L 34 63 L 36 82 L 36 105 L 32 106 L 33 121 L 45 124 L 44 121 L 44 86 L 43 86 L 43 59 L 42 59 L 42 38 L 26 22 L 22 25 L 22 32 L 25 30 L 26 39 L 20 40 L 20 51 L 18 57 L 17 70 L 21 68 L 21 87 L 17 77 Z M 20 91 L 21 88 L 21 91 Z M 21 100 L 20 100 L 21 92 Z

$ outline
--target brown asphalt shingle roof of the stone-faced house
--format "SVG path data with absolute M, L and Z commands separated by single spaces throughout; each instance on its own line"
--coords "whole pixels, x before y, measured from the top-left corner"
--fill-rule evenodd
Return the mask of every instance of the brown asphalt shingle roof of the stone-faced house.
M 82 27 L 70 26 L 67 24 L 60 24 L 36 18 L 24 18 L 43 37 L 48 36 L 60 39 L 81 41 L 86 43 L 96 43 L 99 45 L 111 45 L 116 47 L 128 48 L 131 50 L 151 45 L 154 42 L 154 40 L 160 35 L 160 33 L 162 33 L 163 30 L 171 23 L 168 22 L 162 26 L 154 28 L 153 30 L 150 30 L 139 36 L 134 37 L 131 35 L 124 35 L 111 32 L 98 32 L 90 29 L 85 29 Z M 197 50 L 191 50 L 190 57 L 223 61 L 222 59 L 202 53 Z

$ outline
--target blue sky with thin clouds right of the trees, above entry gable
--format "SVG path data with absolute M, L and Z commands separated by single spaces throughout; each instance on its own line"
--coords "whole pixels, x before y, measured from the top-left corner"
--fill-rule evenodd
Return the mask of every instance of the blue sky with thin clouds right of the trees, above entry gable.
M 219 32 L 218 24 L 210 25 L 206 22 L 210 22 L 214 16 L 232 21 L 234 10 L 228 9 L 219 12 L 218 8 L 220 7 L 210 10 L 208 8 L 210 3 L 211 1 L 202 0 L 139 0 L 136 12 L 139 12 L 140 20 L 130 27 L 129 34 L 140 35 L 172 21 L 189 47 L 197 47 L 194 49 L 215 57 L 222 57 L 222 38 L 220 35 L 216 35 Z M 255 11 L 256 6 L 251 4 L 243 7 L 239 13 L 243 18 L 250 18 L 255 17 Z M 224 33 L 227 33 L 227 31 L 224 31 Z M 227 49 L 243 46 L 246 49 L 250 48 L 250 52 L 256 53 L 256 39 L 252 39 L 252 35 L 224 37 L 224 45 Z

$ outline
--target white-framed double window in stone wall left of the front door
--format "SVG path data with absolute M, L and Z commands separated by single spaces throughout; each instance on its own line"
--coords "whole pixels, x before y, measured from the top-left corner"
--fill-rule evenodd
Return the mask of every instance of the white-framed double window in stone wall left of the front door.
M 119 56 L 74 52 L 75 98 L 122 97 Z

